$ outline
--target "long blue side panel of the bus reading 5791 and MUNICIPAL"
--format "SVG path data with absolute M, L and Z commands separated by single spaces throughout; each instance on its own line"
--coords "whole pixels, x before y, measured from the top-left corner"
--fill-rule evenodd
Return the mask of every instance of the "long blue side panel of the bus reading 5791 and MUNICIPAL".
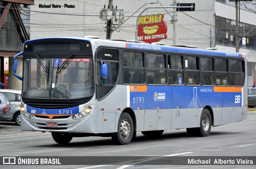
M 242 91 L 242 90 L 241 90 Z M 147 91 L 130 92 L 132 109 L 176 109 L 211 107 L 241 107 L 242 92 L 216 92 L 204 86 L 153 86 Z

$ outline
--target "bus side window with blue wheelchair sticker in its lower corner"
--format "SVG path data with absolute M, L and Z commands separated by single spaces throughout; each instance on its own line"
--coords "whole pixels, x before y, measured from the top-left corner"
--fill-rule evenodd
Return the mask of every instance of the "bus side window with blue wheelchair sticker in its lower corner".
M 169 85 L 184 84 L 183 57 L 168 55 L 168 83 Z

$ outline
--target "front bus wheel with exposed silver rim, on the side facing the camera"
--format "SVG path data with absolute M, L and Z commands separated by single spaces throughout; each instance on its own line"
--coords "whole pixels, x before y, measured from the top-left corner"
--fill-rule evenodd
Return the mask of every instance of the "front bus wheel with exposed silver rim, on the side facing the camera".
M 117 145 L 126 145 L 131 142 L 133 133 L 134 126 L 132 117 L 128 113 L 123 112 L 118 120 L 117 133 L 113 133 L 111 136 L 112 140 Z

